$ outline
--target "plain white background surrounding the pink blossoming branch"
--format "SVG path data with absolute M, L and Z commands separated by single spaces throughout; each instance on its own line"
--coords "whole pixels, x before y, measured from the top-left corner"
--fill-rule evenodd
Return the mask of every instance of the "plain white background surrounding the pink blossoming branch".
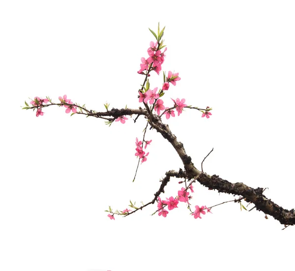
M 268 187 L 285 209 L 294 200 L 295 4 L 293 1 L 1 1 L 0 270 L 283 270 L 291 267 L 294 228 L 229 203 L 202 219 L 185 204 L 167 218 L 151 206 L 110 220 L 111 205 L 147 203 L 177 153 L 148 130 L 148 161 L 132 183 L 134 124 L 21 110 L 34 96 L 67 94 L 88 109 L 138 108 L 141 57 L 166 26 L 164 71 L 181 80 L 163 97 L 213 108 L 165 120 L 200 169 L 231 182 Z M 150 77 L 151 88 L 162 76 Z M 164 197 L 182 186 L 173 179 Z M 232 195 L 195 185 L 192 206 Z M 247 205 L 244 203 L 245 206 Z M 247 209 L 251 209 L 252 205 Z M 291 257 L 291 258 L 290 258 Z M 289 259 L 289 260 L 287 260 Z

